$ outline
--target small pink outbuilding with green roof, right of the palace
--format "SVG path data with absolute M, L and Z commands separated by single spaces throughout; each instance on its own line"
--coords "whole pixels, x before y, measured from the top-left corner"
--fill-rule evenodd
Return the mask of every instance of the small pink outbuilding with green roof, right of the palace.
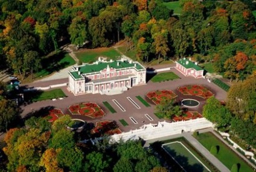
M 193 63 L 187 58 L 181 58 L 176 61 L 176 67 L 184 76 L 193 76 L 194 78 L 203 78 L 203 69 L 197 63 Z

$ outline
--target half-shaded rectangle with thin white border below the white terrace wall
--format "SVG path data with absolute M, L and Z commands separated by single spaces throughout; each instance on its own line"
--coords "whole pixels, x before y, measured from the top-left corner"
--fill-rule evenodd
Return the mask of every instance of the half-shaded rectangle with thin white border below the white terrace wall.
M 181 142 L 164 144 L 163 147 L 186 171 L 209 171 Z

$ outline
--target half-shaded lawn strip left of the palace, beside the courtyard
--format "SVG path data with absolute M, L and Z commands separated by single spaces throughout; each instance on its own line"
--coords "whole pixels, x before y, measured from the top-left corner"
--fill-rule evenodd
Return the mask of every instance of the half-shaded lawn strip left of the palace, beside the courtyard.
M 51 91 L 31 91 L 25 93 L 25 99 L 31 100 L 32 102 L 39 102 L 42 100 L 57 99 L 59 97 L 66 97 L 62 89 L 57 88 Z

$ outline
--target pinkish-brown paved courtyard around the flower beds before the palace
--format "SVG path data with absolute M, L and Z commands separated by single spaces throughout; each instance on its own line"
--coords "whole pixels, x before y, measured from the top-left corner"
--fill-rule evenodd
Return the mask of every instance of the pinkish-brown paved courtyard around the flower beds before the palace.
M 178 97 L 176 99 L 195 99 L 200 102 L 200 105 L 196 108 L 189 109 L 190 111 L 197 111 L 202 113 L 202 106 L 205 103 L 206 99 L 203 97 L 191 96 L 191 95 L 184 95 L 178 91 L 178 87 L 182 87 L 185 85 L 202 85 L 203 87 L 208 88 L 211 93 L 213 93 L 217 99 L 224 100 L 226 97 L 226 92 L 223 91 L 221 88 L 217 87 L 217 85 L 207 82 L 206 79 L 194 79 L 192 77 L 185 77 L 175 69 L 171 69 L 170 72 L 175 73 L 181 79 L 177 79 L 174 81 L 165 81 L 165 82 L 147 82 L 147 85 L 141 85 L 138 87 L 133 87 L 128 91 L 125 91 L 123 94 L 117 94 L 112 96 L 106 96 L 101 94 L 85 94 L 81 96 L 74 96 L 74 94 L 70 93 L 66 87 L 62 88 L 62 91 L 66 94 L 62 100 L 44 100 L 42 102 L 34 102 L 30 105 L 22 107 L 24 111 L 22 112 L 22 116 L 27 115 L 28 113 L 33 113 L 39 111 L 42 108 L 59 108 L 62 110 L 63 114 L 71 115 L 71 112 L 68 110 L 68 107 L 71 105 L 79 105 L 85 102 L 95 102 L 98 106 L 102 108 L 102 110 L 106 113 L 103 117 L 99 118 L 91 118 L 86 115 L 80 114 L 72 114 L 72 118 L 78 118 L 85 120 L 86 122 L 96 123 L 98 121 L 103 120 L 115 120 L 120 126 L 121 131 L 127 132 L 131 129 L 138 129 L 143 124 L 149 123 L 158 123 L 158 121 L 164 121 L 165 119 L 159 119 L 154 114 L 155 111 L 155 103 L 153 103 L 146 94 L 149 91 L 156 91 L 156 90 L 171 90 L 176 94 Z M 37 82 L 36 84 L 39 85 L 51 85 L 53 82 L 57 81 L 45 81 L 45 82 Z M 33 85 L 33 86 L 36 86 Z M 137 97 L 140 96 L 142 99 L 146 100 L 150 106 L 144 105 Z M 115 112 L 112 113 L 109 108 L 104 105 L 104 102 L 107 102 L 112 108 L 114 108 Z M 106 104 L 106 103 L 105 103 Z M 120 120 L 126 121 L 127 125 L 124 126 Z M 167 120 L 168 121 L 168 120 Z

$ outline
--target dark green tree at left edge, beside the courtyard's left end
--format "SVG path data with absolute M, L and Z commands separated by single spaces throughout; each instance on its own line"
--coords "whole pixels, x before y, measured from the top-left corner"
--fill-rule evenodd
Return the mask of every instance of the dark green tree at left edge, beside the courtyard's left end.
M 7 131 L 10 124 L 19 119 L 21 109 L 12 100 L 0 100 L 0 130 Z

